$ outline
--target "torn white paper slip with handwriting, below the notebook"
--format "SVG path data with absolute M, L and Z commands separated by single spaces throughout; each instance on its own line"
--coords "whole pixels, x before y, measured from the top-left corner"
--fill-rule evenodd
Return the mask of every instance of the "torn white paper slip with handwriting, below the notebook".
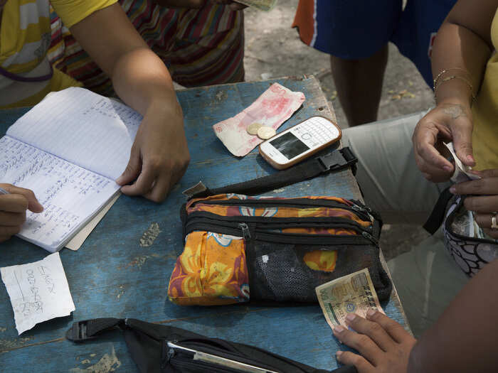
M 75 310 L 58 252 L 34 263 L 0 268 L 0 274 L 11 298 L 19 335 Z

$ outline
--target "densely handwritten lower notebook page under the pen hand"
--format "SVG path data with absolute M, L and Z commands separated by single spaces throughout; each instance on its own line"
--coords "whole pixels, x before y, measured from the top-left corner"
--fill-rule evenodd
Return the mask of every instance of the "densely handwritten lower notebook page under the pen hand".
M 0 139 L 0 180 L 33 190 L 44 210 L 26 212 L 18 234 L 49 252 L 61 249 L 92 215 L 112 198 L 119 186 L 21 141 Z

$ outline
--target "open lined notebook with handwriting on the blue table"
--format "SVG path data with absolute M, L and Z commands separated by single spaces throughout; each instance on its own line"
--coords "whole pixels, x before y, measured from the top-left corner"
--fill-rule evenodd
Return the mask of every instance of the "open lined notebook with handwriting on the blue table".
M 33 190 L 18 234 L 49 252 L 92 220 L 120 186 L 142 116 L 83 88 L 48 94 L 0 139 L 0 182 Z

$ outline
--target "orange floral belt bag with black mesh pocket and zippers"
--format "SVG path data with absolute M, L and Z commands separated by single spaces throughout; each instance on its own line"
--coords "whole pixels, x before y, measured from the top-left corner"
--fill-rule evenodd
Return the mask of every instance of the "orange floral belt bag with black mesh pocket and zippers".
M 179 305 L 316 303 L 316 286 L 364 268 L 379 299 L 391 293 L 379 260 L 381 221 L 361 202 L 208 191 L 182 207 L 181 219 L 185 247 L 168 289 Z

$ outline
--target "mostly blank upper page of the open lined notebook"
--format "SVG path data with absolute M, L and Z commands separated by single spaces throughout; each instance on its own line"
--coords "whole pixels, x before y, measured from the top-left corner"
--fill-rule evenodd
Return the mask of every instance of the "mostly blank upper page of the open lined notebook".
M 7 135 L 115 180 L 126 168 L 141 121 L 124 104 L 72 87 L 48 94 Z

